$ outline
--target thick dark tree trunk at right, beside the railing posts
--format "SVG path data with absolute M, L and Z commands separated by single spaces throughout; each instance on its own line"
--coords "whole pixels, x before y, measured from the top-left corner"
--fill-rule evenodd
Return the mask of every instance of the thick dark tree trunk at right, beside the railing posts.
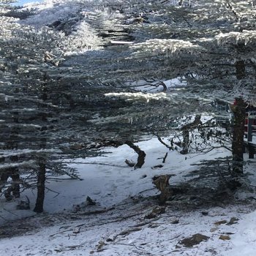
M 232 106 L 234 114 L 233 124 L 233 176 L 243 174 L 244 160 L 244 119 L 246 117 L 246 104 L 244 99 L 236 98 L 236 105 Z

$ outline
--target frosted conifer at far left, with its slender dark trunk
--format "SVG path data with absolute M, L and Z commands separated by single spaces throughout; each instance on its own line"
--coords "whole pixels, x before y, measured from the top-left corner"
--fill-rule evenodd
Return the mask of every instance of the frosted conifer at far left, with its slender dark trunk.
M 46 172 L 68 174 L 65 165 L 61 167 L 58 161 L 63 152 L 61 145 L 66 143 L 59 143 L 63 136 L 61 121 L 64 124 L 65 103 L 53 104 L 50 98 L 59 95 L 59 88 L 58 84 L 50 87 L 52 80 L 46 75 L 61 60 L 61 34 L 55 35 L 46 27 L 20 25 L 9 17 L 10 10 L 12 7 L 6 4 L 1 9 L 1 189 L 10 176 L 12 184 L 4 189 L 4 194 L 11 200 L 19 197 L 20 185 L 34 188 L 33 179 L 20 178 L 21 174 L 36 176 L 34 211 L 42 212 Z M 75 137 L 75 132 L 72 135 Z

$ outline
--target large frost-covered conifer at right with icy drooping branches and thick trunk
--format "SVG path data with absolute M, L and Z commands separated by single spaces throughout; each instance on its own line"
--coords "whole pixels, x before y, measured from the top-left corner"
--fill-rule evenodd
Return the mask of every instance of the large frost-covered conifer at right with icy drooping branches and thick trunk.
M 113 3 L 115 1 L 111 1 Z M 170 99 L 164 108 L 159 105 L 159 109 L 164 109 L 162 113 L 157 110 L 158 106 L 152 111 L 148 104 L 135 107 L 135 111 L 127 110 L 127 121 L 136 120 L 138 109 L 144 113 L 141 118 L 144 131 L 151 128 L 144 122 L 147 116 L 152 118 L 155 114 L 157 120 L 165 120 L 167 124 L 179 115 L 178 110 L 183 105 L 187 105 L 183 113 L 199 114 L 207 110 L 206 105 L 215 98 L 230 104 L 238 98 L 238 105 L 232 108 L 235 120 L 232 148 L 236 148 L 233 150 L 236 162 L 233 175 L 241 174 L 242 165 L 237 162 L 241 162 L 243 153 L 244 101 L 251 100 L 255 77 L 254 4 L 226 0 L 129 1 L 116 10 L 126 17 L 121 25 L 131 37 L 122 42 L 109 42 L 104 52 L 86 54 L 89 65 L 80 56 L 78 64 L 86 67 L 91 79 L 121 84 L 124 91 L 107 96 L 133 102 L 144 97 L 136 91 L 140 89 L 136 88 L 136 81 L 141 85 L 141 81 L 148 83 L 149 79 L 157 82 L 173 78 L 185 80 L 182 88 L 165 90 L 162 87 L 162 99 Z M 95 63 L 102 65 L 101 68 L 95 70 Z M 112 120 L 116 122 L 116 118 Z M 119 120 L 122 118 L 124 116 Z M 157 122 L 154 124 L 157 126 Z M 159 124 L 163 123 L 159 121 Z

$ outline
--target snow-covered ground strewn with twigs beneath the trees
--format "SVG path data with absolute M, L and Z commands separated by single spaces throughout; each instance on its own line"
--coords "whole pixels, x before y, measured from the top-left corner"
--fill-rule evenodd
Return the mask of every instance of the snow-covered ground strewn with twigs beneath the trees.
M 73 163 L 83 181 L 49 181 L 48 189 L 59 195 L 48 190 L 44 214 L 15 210 L 17 202 L 6 203 L 1 198 L 1 255 L 255 255 L 254 199 L 198 206 L 170 201 L 159 206 L 157 197 L 152 197 L 159 193 L 151 183 L 153 176 L 175 174 L 170 184 L 186 181 L 185 175 L 196 168 L 191 164 L 227 156 L 227 151 L 184 156 L 168 151 L 157 139 L 139 146 L 146 151 L 141 169 L 133 170 L 124 163 L 137 158 L 128 146 L 105 148 L 112 153 Z M 167 159 L 162 163 L 165 153 Z M 254 169 L 253 161 L 246 165 L 246 173 Z M 255 184 L 254 175 L 249 179 Z M 33 208 L 34 193 L 23 195 Z M 86 206 L 87 196 L 97 205 Z M 185 246 L 183 239 L 195 234 L 207 238 Z

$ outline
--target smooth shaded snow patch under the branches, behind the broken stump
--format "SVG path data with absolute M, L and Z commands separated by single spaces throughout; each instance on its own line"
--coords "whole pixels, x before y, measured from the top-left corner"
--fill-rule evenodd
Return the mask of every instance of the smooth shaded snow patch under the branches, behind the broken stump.
M 184 176 L 196 168 L 191 164 L 197 163 L 202 157 L 205 157 L 204 154 L 184 156 L 178 151 L 168 151 L 157 138 L 141 142 L 138 145 L 146 151 L 146 163 L 143 168 L 138 170 L 133 170 L 132 167 L 128 167 L 124 163 L 125 159 L 136 161 L 138 157 L 127 145 L 118 148 L 105 148 L 104 151 L 112 151 L 112 154 L 106 154 L 105 157 L 76 160 L 81 163 L 73 163 L 71 166 L 79 170 L 80 178 L 83 178 L 83 181 L 70 180 L 68 177 L 64 181 L 48 181 L 47 188 L 54 192 L 48 190 L 46 193 L 45 211 L 54 213 L 71 209 L 73 204 L 84 202 L 87 196 L 97 200 L 101 206 L 113 206 L 129 196 L 153 189 L 151 178 L 156 175 L 167 173 L 176 175 L 171 178 L 172 184 L 186 181 L 187 177 Z M 165 165 L 162 168 L 152 169 L 151 167 L 162 163 L 165 153 L 168 153 Z M 227 152 L 219 149 L 212 151 L 207 157 L 214 159 L 223 157 L 225 154 Z M 156 193 L 158 193 L 157 189 L 153 189 L 143 195 L 156 195 Z M 35 201 L 36 193 L 25 192 L 24 195 L 28 195 L 31 202 Z

